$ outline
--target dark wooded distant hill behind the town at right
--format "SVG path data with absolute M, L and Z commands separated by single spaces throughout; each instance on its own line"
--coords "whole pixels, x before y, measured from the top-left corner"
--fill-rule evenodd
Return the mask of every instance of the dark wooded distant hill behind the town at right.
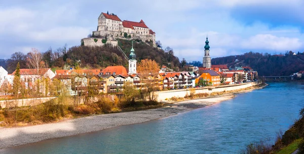
M 237 60 L 237 61 L 236 61 Z M 249 52 L 243 55 L 213 58 L 213 65 L 227 64 L 228 67 L 250 66 L 258 71 L 259 75 L 290 75 L 304 70 L 304 54 L 270 55 Z

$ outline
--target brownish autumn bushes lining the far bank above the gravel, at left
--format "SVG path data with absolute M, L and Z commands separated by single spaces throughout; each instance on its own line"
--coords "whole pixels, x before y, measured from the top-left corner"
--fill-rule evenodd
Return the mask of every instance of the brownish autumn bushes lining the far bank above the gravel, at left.
M 77 103 L 78 97 L 59 96 L 36 106 L 0 109 L 0 126 L 18 127 L 58 122 L 94 114 L 162 107 L 157 101 L 126 100 L 125 97 L 95 96 L 94 102 Z

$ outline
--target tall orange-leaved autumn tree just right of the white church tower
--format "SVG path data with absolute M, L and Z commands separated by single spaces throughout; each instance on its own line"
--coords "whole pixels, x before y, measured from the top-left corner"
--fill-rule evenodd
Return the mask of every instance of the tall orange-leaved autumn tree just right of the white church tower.
M 160 66 L 159 64 L 150 59 L 143 59 L 137 66 L 137 71 L 140 73 L 142 81 L 142 89 L 140 95 L 145 100 L 145 96 L 148 96 L 149 101 L 155 101 L 155 91 L 159 90 L 158 86 L 158 74 Z

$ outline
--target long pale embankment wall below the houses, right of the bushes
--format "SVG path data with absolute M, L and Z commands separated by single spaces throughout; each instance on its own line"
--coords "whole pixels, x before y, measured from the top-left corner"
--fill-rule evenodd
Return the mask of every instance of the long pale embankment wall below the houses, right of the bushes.
M 191 91 L 194 91 L 195 94 L 199 93 L 213 93 L 213 92 L 223 92 L 223 91 L 233 91 L 244 89 L 252 86 L 256 86 L 261 84 L 261 82 L 251 82 L 245 84 L 237 84 L 237 85 L 224 85 L 218 87 L 202 87 L 202 88 L 194 88 L 194 89 L 180 89 L 180 90 L 168 90 L 168 91 L 160 91 L 157 92 L 158 101 L 164 101 L 166 99 L 170 99 L 172 97 L 185 97 L 187 94 L 189 95 Z

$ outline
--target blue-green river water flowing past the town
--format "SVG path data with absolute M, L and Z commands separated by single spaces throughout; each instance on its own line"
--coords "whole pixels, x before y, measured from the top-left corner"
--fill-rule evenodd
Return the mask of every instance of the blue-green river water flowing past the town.
M 285 132 L 304 107 L 304 85 L 270 83 L 231 100 L 142 124 L 45 140 L 0 153 L 237 153 Z

